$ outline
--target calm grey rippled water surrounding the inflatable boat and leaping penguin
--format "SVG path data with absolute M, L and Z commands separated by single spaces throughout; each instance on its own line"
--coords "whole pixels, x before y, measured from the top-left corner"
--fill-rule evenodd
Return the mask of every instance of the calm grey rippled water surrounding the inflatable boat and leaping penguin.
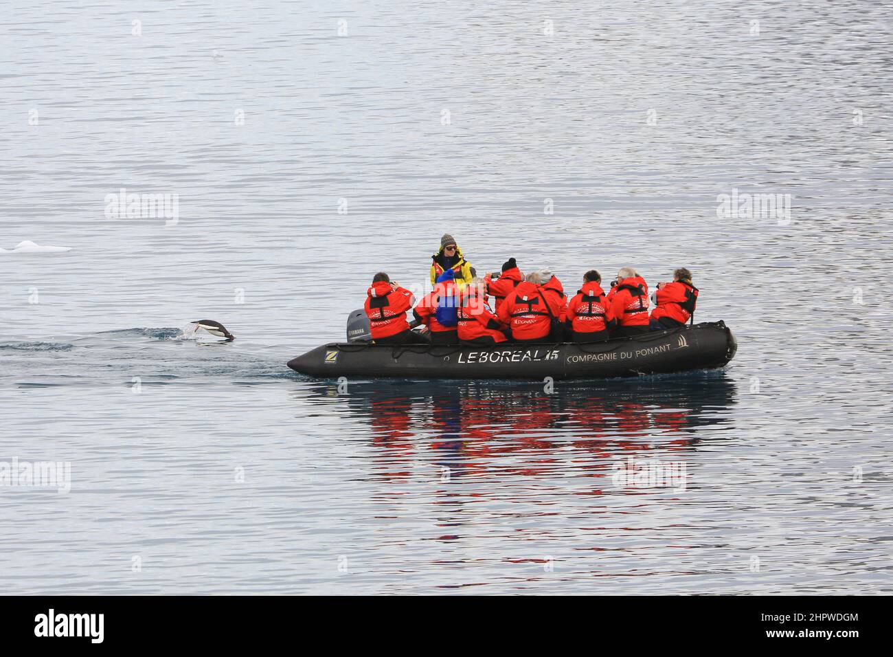
M 0 460 L 71 463 L 0 486 L 4 592 L 893 593 L 889 5 L 3 22 L 0 248 L 71 248 L 0 252 Z M 121 188 L 176 221 L 108 216 Z M 718 215 L 734 190 L 789 215 Z M 570 291 L 688 265 L 738 356 L 552 394 L 285 367 L 443 232 Z

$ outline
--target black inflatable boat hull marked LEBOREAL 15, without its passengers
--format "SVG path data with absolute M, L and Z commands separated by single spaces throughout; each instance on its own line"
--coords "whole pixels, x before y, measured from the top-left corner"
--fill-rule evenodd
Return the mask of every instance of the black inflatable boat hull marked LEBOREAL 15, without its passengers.
M 601 379 L 722 367 L 737 349 L 735 336 L 721 321 L 592 344 L 331 343 L 293 358 L 288 366 L 321 378 Z

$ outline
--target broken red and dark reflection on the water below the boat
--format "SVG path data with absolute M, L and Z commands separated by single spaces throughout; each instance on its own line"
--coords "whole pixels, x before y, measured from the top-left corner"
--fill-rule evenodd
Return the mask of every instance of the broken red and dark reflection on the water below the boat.
M 736 403 L 735 383 L 715 371 L 551 386 L 407 380 L 313 386 L 362 420 L 371 444 L 387 451 L 384 470 L 396 478 L 409 476 L 420 459 L 450 477 L 495 471 L 537 477 L 605 468 L 625 453 L 647 451 L 641 456 L 652 458 L 690 450 L 705 432 L 726 428 Z

